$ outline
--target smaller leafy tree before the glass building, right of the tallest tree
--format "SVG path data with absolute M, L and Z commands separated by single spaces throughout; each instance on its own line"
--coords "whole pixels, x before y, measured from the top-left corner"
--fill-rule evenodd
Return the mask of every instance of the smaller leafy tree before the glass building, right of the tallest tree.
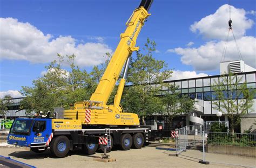
M 169 125 L 169 129 L 172 126 L 173 117 L 182 113 L 188 113 L 194 108 L 194 100 L 190 99 L 187 95 L 180 95 L 180 93 L 176 92 L 178 86 L 170 85 L 169 92 L 163 96 L 163 106 L 165 110 L 162 115 L 167 116 L 166 122 Z

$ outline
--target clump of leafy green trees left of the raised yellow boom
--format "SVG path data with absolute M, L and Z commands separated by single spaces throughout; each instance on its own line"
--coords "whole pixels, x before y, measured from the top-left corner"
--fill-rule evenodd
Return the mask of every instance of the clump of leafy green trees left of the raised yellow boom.
M 33 80 L 32 87 L 22 87 L 21 93 L 25 97 L 21 101 L 21 109 L 26 109 L 26 113 L 43 111 L 46 114 L 55 107 L 70 108 L 75 102 L 89 100 L 105 71 L 110 54 L 106 53 L 105 62 L 94 66 L 90 73 L 75 65 L 74 54 L 57 56 L 58 60 L 45 66 L 46 73 Z M 70 71 L 62 68 L 66 66 L 64 60 L 67 60 Z

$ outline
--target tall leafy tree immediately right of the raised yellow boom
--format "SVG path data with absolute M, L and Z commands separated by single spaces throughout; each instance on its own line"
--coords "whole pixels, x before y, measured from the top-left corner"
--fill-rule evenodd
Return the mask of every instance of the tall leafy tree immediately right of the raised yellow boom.
M 143 124 L 145 116 L 157 114 L 163 109 L 160 97 L 156 95 L 161 83 L 170 78 L 172 73 L 164 61 L 153 58 L 154 51 L 156 43 L 148 38 L 143 50 L 137 51 L 137 57 L 131 59 L 127 74 L 127 83 L 131 86 L 125 87 L 123 96 L 126 111 L 137 113 L 142 117 Z M 158 87 L 154 87 L 156 83 L 159 84 Z

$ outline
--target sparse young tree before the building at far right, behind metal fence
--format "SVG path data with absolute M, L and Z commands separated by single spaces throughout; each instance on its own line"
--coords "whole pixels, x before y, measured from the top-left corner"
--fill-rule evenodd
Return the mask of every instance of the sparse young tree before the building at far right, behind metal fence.
M 248 88 L 246 81 L 237 74 L 227 74 L 220 77 L 220 81 L 214 81 L 212 95 L 218 101 L 213 101 L 214 109 L 221 111 L 230 118 L 231 132 L 240 123 L 241 115 L 247 113 L 253 106 L 254 88 Z

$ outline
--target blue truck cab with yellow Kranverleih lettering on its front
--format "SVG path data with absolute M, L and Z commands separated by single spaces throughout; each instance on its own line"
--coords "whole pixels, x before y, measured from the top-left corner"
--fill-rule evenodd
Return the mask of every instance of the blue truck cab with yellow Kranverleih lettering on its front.
M 7 143 L 19 146 L 46 147 L 51 136 L 51 119 L 47 118 L 18 118 L 11 126 Z M 39 150 L 39 147 L 36 148 Z M 43 148 L 44 149 L 44 148 Z

